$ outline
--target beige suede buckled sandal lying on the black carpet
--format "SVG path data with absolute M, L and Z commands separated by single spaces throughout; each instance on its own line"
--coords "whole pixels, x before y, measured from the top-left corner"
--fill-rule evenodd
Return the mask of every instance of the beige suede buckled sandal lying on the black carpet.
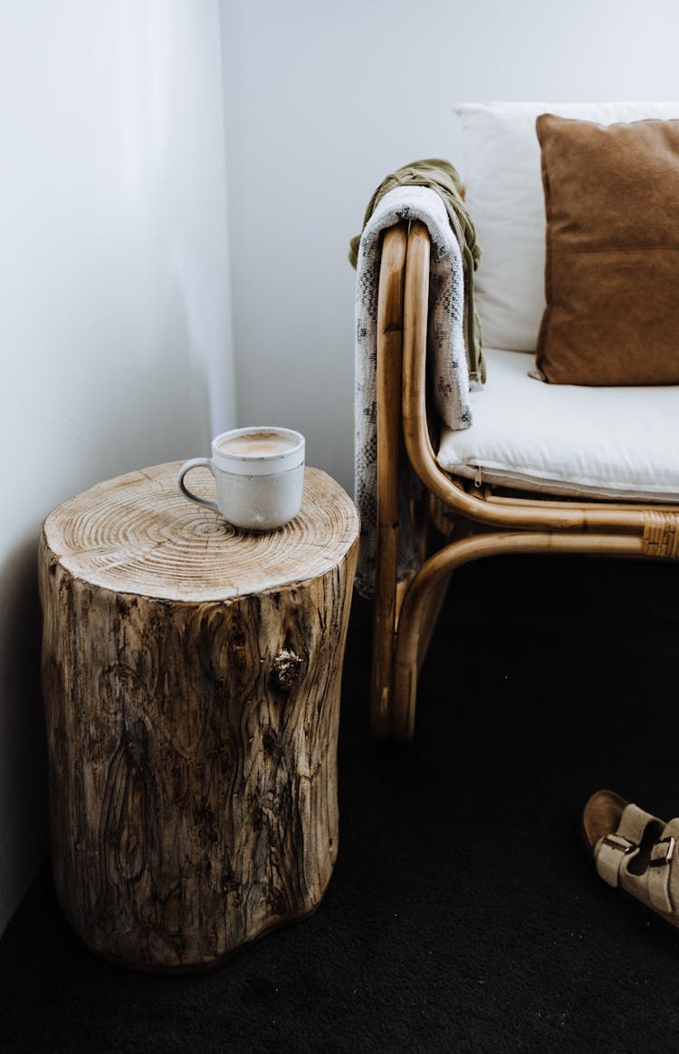
M 581 836 L 604 882 L 679 926 L 679 818 L 665 823 L 615 790 L 597 790 L 582 812 Z

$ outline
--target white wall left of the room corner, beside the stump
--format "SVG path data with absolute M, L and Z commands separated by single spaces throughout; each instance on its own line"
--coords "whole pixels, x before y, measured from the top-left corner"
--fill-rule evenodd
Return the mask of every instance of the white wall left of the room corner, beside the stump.
M 0 0 L 0 931 L 45 851 L 57 504 L 235 424 L 218 0 Z

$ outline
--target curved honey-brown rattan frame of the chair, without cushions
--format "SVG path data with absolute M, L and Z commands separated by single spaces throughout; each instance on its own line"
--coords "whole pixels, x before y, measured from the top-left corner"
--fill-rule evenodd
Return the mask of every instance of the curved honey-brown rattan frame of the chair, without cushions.
M 591 553 L 676 560 L 679 502 L 605 501 L 521 492 L 455 477 L 437 461 L 440 426 L 427 393 L 430 234 L 419 222 L 383 234 L 377 337 L 377 571 L 371 727 L 411 740 L 418 677 L 455 570 L 501 553 Z M 679 428 L 679 426 L 678 426 Z M 422 564 L 398 581 L 399 456 L 424 487 Z M 434 529 L 432 529 L 434 528 Z

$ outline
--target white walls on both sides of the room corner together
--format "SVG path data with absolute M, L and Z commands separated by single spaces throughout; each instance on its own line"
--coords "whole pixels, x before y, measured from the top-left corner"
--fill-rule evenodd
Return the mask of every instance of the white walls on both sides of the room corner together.
M 45 844 L 44 515 L 245 423 L 351 491 L 375 187 L 463 171 L 455 102 L 676 98 L 678 30 L 675 0 L 0 0 L 0 930 Z

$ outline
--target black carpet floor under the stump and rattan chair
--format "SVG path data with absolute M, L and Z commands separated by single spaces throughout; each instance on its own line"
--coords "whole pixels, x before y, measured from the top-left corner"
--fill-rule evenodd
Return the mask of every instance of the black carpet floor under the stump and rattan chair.
M 470 565 L 397 747 L 370 737 L 355 598 L 340 851 L 316 914 L 208 973 L 133 973 L 80 944 L 46 864 L 0 941 L 0 1050 L 679 1051 L 679 931 L 578 840 L 600 787 L 679 815 L 678 632 L 678 565 Z

